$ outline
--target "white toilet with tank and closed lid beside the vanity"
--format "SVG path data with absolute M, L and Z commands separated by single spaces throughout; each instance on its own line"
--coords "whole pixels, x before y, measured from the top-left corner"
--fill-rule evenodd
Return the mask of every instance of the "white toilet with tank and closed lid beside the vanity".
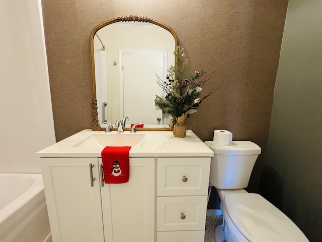
M 214 152 L 209 183 L 215 187 L 223 216 L 216 242 L 308 241 L 303 232 L 278 208 L 259 194 L 244 190 L 261 148 L 250 141 L 205 144 Z

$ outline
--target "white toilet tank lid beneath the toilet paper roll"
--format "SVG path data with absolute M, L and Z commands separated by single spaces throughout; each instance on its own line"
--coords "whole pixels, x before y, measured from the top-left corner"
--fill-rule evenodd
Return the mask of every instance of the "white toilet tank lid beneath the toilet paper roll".
M 205 144 L 216 155 L 259 155 L 261 147 L 251 141 L 232 141 L 230 145 L 217 145 L 213 141 L 205 141 Z

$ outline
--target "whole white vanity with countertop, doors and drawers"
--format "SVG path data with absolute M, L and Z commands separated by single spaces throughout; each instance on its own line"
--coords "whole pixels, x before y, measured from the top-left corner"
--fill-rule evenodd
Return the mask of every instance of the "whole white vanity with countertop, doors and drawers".
M 105 184 L 100 156 L 115 142 L 131 146 L 129 181 Z M 84 130 L 38 154 L 53 242 L 204 241 L 213 152 L 192 131 Z

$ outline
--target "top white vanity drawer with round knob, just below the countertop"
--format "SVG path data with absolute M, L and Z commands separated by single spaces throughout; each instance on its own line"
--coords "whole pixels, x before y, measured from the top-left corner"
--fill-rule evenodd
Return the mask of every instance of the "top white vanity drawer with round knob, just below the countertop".
M 210 157 L 157 158 L 157 196 L 208 194 Z

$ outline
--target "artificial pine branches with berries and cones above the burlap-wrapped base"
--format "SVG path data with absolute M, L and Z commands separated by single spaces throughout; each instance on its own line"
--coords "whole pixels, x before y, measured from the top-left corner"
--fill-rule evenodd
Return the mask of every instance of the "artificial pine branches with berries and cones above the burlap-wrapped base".
M 205 75 L 206 71 L 195 71 L 194 74 L 185 75 L 188 60 L 184 59 L 184 48 L 177 46 L 174 54 L 176 56 L 176 65 L 169 68 L 167 81 L 163 81 L 155 74 L 157 78 L 156 82 L 164 90 L 166 96 L 155 95 L 154 101 L 164 112 L 169 113 L 173 118 L 178 118 L 183 114 L 189 115 L 196 113 L 196 108 L 203 100 L 218 90 L 223 81 L 207 95 L 200 98 L 201 86 L 213 78 L 213 72 Z

